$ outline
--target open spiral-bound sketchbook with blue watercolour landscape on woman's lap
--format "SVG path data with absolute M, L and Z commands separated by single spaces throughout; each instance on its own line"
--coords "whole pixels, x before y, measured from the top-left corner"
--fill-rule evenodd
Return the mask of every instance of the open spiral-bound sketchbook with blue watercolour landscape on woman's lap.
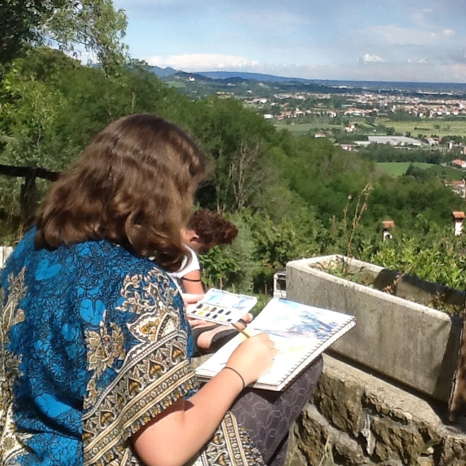
M 334 341 L 356 325 L 353 316 L 273 298 L 248 325 L 250 335 L 266 332 L 278 350 L 271 369 L 252 386 L 281 391 Z M 246 337 L 240 333 L 196 369 L 200 380 L 214 377 Z

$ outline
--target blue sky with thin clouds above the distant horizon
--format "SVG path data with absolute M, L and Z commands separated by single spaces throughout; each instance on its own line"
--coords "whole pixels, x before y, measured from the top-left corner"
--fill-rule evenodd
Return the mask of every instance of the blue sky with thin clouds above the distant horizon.
M 115 0 L 134 58 L 184 71 L 466 82 L 464 0 Z

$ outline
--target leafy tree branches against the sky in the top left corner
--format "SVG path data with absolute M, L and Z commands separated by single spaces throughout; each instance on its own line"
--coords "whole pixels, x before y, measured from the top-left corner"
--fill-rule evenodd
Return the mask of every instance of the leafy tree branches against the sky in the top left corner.
M 107 76 L 117 74 L 126 59 L 127 17 L 112 0 L 0 1 L 0 65 L 10 63 L 26 44 L 58 44 L 78 54 L 95 54 Z

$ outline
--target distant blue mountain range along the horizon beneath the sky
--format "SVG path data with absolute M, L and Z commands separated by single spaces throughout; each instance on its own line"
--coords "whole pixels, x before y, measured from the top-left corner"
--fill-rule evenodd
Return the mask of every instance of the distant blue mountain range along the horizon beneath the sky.
M 373 89 L 373 90 L 404 90 L 409 92 L 433 93 L 433 94 L 464 94 L 466 93 L 466 83 L 416 83 L 416 82 L 389 82 L 389 81 L 343 81 L 327 79 L 303 79 L 288 78 L 284 76 L 274 76 L 272 74 L 249 73 L 242 71 L 199 71 L 190 73 L 188 71 L 176 70 L 170 67 L 148 67 L 148 71 L 156 74 L 160 78 L 170 76 L 191 76 L 198 80 L 225 80 L 235 81 L 264 81 L 275 83 L 309 83 L 321 86 L 340 89 Z

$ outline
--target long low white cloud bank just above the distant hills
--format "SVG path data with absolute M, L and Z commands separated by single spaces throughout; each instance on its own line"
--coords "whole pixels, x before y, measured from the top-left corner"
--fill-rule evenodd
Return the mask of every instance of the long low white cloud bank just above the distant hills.
M 237 55 L 216 53 L 185 53 L 180 55 L 153 55 L 145 58 L 151 66 L 172 67 L 186 71 L 212 71 L 218 69 L 235 69 L 256 67 L 259 62 Z

